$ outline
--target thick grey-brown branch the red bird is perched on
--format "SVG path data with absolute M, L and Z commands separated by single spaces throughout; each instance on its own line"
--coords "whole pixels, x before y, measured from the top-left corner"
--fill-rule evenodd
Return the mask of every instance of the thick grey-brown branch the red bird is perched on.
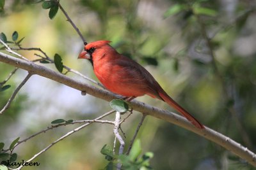
M 108 92 L 107 90 L 93 87 L 92 85 L 88 85 L 87 83 L 74 80 L 63 74 L 52 71 L 47 67 L 38 66 L 33 62 L 17 59 L 15 57 L 7 55 L 6 53 L 0 52 L 0 61 L 14 67 L 19 67 L 20 69 L 25 69 L 33 74 L 38 74 L 40 76 L 44 76 L 45 78 L 58 81 L 59 83 L 67 85 L 68 87 L 72 87 L 80 91 L 86 91 L 87 94 L 98 97 L 100 99 L 104 99 L 105 101 L 111 101 L 111 99 L 118 97 L 115 94 Z M 138 101 L 131 101 L 130 104 L 133 110 L 140 111 L 141 113 L 147 113 L 152 117 L 160 118 L 172 124 L 179 125 L 184 129 L 188 129 L 191 132 L 195 132 L 196 134 L 206 139 L 209 139 L 210 141 L 213 141 L 220 146 L 223 146 L 227 150 L 230 150 L 230 152 L 235 153 L 236 155 L 256 167 L 255 153 L 251 152 L 250 150 L 248 150 L 248 148 L 245 148 L 244 146 L 228 138 L 227 136 L 224 136 L 219 132 L 209 129 L 208 127 L 205 127 L 205 129 L 198 129 L 190 124 L 188 120 L 186 120 L 186 118 L 181 117 L 175 113 L 171 113 L 170 111 L 161 110 L 159 108 Z

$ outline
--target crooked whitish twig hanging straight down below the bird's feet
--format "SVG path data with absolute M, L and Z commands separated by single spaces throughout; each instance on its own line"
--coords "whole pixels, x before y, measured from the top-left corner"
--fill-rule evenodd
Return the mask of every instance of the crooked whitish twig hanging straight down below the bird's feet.
M 123 154 L 123 152 L 124 152 L 124 145 L 125 145 L 124 139 L 122 138 L 122 136 L 118 132 L 118 129 L 120 127 L 120 118 L 121 118 L 120 112 L 116 111 L 115 127 L 113 129 L 113 132 L 115 134 L 115 137 L 118 139 L 118 141 L 120 143 L 118 155 L 122 155 Z M 118 163 L 116 169 L 120 170 L 121 166 L 122 166 L 122 164 Z

